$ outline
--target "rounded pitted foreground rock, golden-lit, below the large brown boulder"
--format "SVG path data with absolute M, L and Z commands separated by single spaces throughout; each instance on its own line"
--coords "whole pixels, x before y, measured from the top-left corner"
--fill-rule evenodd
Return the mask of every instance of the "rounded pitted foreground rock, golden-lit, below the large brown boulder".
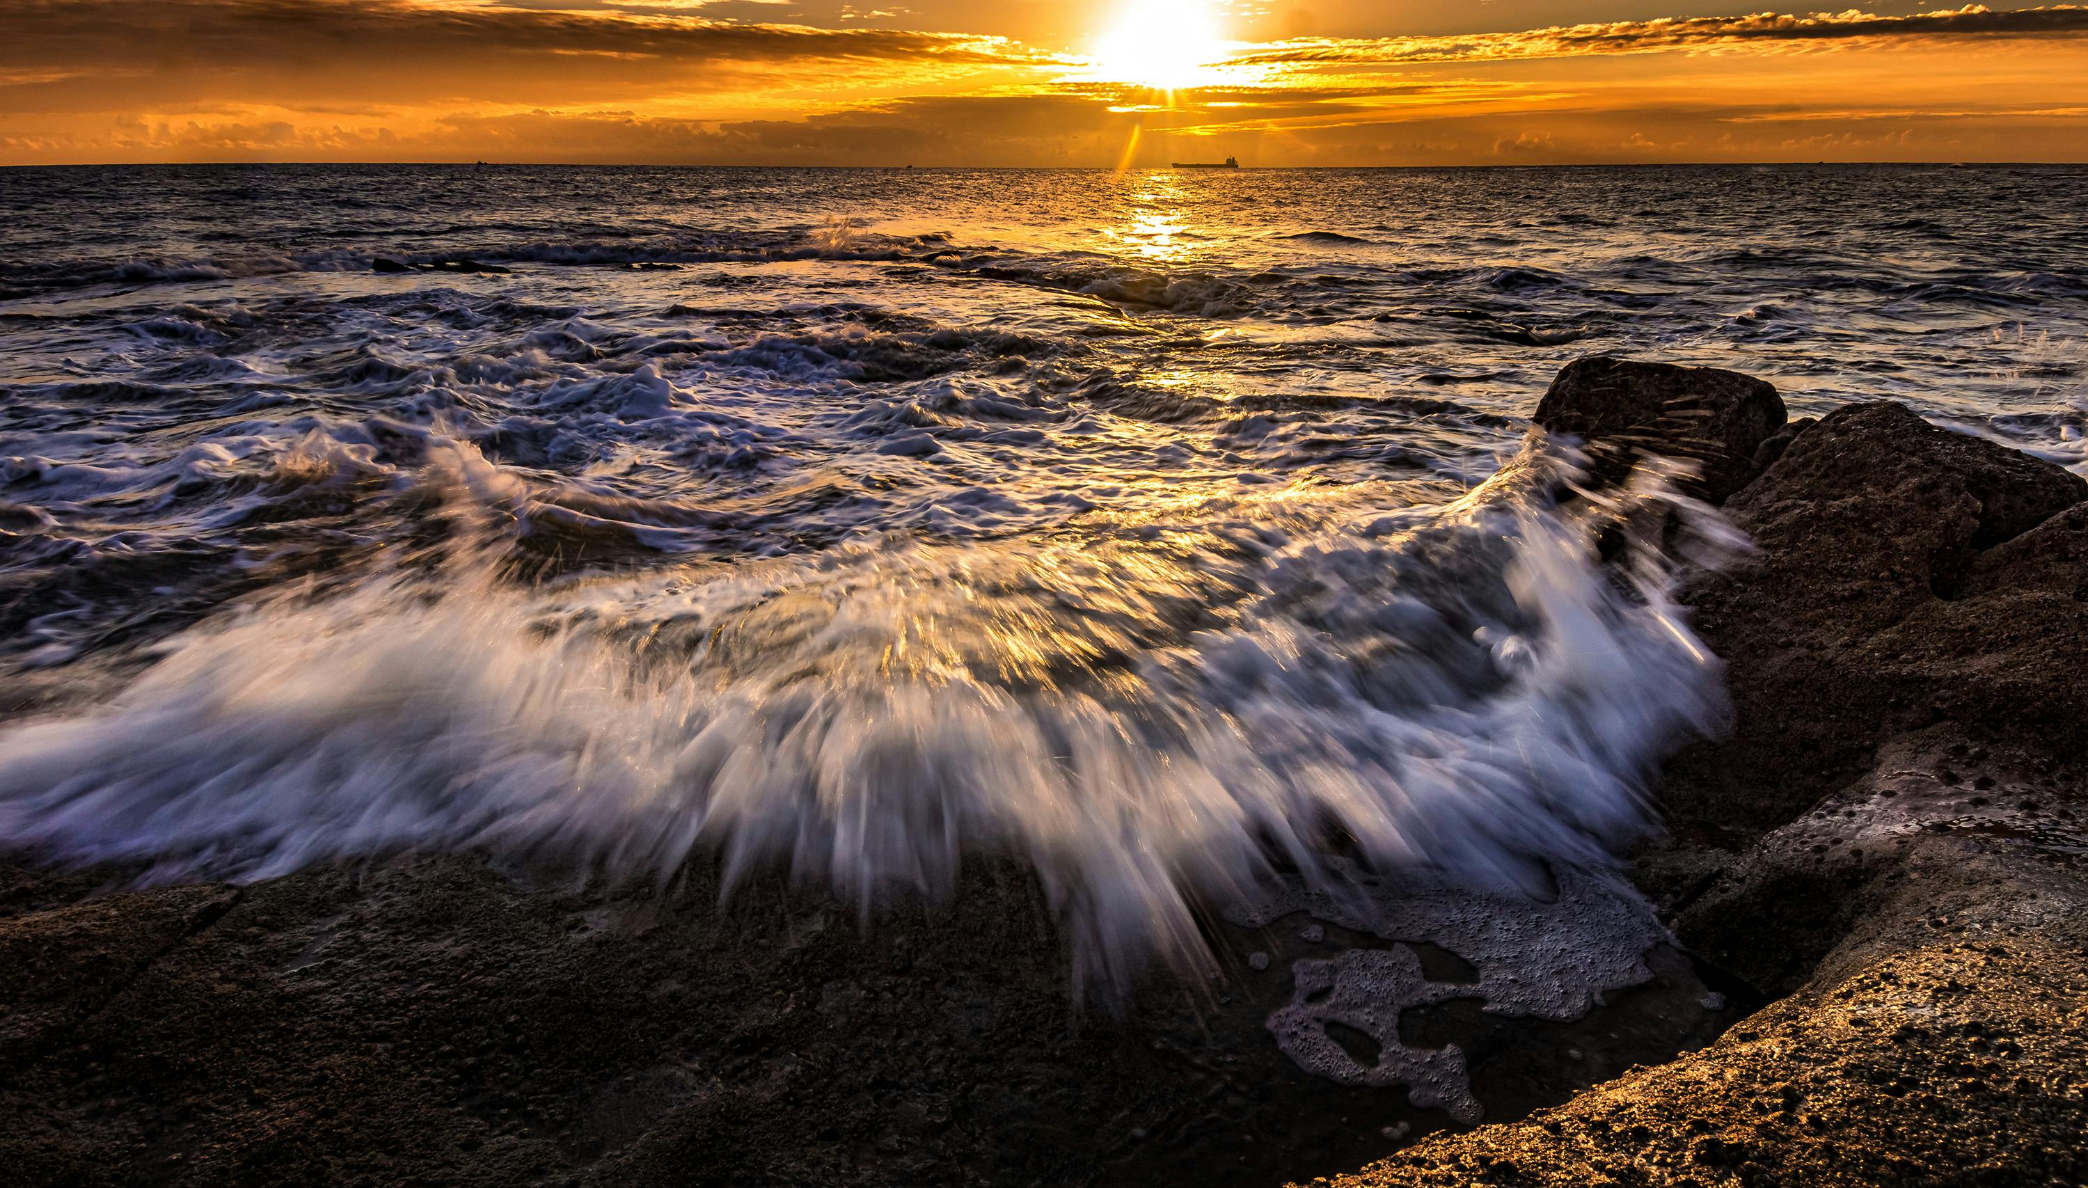
M 2080 1184 L 2080 789 L 2032 773 L 1942 783 L 1967 775 L 1961 756 L 1890 747 L 1875 775 L 1725 856 L 1681 912 L 1700 952 L 1792 994 L 1702 1052 L 1334 1182 Z

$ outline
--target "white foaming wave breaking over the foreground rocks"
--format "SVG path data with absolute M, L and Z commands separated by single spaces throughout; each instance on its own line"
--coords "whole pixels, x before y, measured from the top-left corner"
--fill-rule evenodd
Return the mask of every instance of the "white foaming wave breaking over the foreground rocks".
M 1013 854 L 1077 975 L 1121 985 L 1203 960 L 1201 906 L 1274 871 L 1533 887 L 1647 825 L 1639 781 L 1714 722 L 1716 662 L 1658 553 L 1595 560 L 1597 524 L 1679 503 L 1562 507 L 1568 476 L 1533 447 L 1447 505 L 1299 486 L 530 585 L 549 493 L 438 438 L 413 482 L 447 545 L 257 595 L 106 704 L 6 729 L 0 837 L 150 879 L 716 860 L 864 908 Z

